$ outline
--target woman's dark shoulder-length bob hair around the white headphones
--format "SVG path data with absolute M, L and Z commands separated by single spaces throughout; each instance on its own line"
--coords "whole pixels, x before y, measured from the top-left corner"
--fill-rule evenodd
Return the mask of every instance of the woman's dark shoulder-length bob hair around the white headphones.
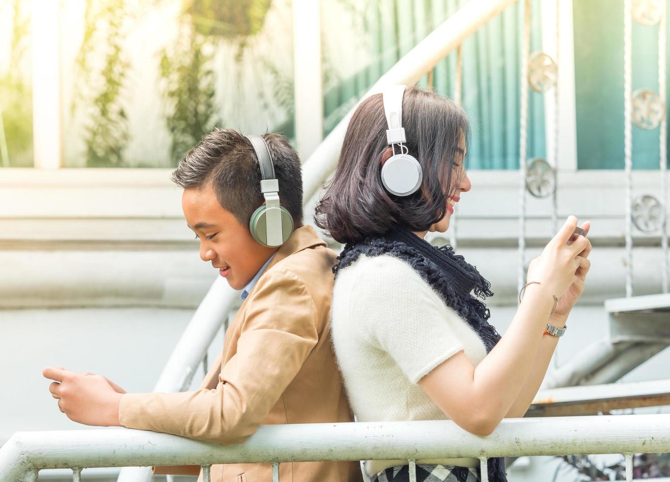
M 465 173 L 460 162 L 470 141 L 468 116 L 452 100 L 411 87 L 403 96 L 402 123 L 405 145 L 423 169 L 421 187 L 404 197 L 384 188 L 381 167 L 391 147 L 382 94 L 366 98 L 352 115 L 337 168 L 316 206 L 316 225 L 334 240 L 360 242 L 394 224 L 427 231 L 446 215 L 447 199 L 458 193 Z

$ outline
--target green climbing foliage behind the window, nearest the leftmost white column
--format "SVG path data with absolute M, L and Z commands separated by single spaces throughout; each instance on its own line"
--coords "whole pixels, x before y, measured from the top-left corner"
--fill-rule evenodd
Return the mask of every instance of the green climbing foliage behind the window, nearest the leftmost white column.
M 86 1 L 72 110 L 82 106 L 88 116 L 84 127 L 88 167 L 124 166 L 129 131 L 122 94 L 129 62 L 123 54 L 123 41 L 129 15 L 126 0 Z M 98 54 L 103 54 L 102 68 L 95 70 L 93 58 Z

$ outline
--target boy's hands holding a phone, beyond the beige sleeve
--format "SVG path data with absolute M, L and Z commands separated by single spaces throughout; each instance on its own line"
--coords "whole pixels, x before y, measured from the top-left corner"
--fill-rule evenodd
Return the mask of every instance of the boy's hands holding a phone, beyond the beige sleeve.
M 94 426 L 121 426 L 119 403 L 125 393 L 123 388 L 104 376 L 77 374 L 64 368 L 47 367 L 42 375 L 55 380 L 49 391 L 70 420 Z

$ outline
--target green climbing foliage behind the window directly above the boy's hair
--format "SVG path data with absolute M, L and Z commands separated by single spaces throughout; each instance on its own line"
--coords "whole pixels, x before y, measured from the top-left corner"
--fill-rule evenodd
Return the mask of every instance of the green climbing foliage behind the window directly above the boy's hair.
M 200 138 L 218 125 L 212 54 L 202 35 L 182 25 L 176 44 L 161 53 L 161 90 L 167 100 L 165 123 L 172 135 L 174 165 Z

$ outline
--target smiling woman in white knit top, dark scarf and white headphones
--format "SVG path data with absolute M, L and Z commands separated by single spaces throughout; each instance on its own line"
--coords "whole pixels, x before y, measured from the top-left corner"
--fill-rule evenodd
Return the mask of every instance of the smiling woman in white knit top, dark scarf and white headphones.
M 332 337 L 359 421 L 449 418 L 485 436 L 502 418 L 523 416 L 584 290 L 591 246 L 585 236 L 570 242 L 569 216 L 529 264 L 523 303 L 500 337 L 476 298 L 493 295 L 488 281 L 451 246 L 423 240 L 446 232 L 470 191 L 469 133 L 465 112 L 433 92 L 396 86 L 370 96 L 316 208 L 318 226 L 345 244 L 333 268 Z M 406 482 L 406 464 L 367 461 L 366 471 L 372 482 Z M 422 461 L 417 482 L 474 482 L 478 467 L 478 459 Z M 488 460 L 488 477 L 507 480 L 502 458 Z

